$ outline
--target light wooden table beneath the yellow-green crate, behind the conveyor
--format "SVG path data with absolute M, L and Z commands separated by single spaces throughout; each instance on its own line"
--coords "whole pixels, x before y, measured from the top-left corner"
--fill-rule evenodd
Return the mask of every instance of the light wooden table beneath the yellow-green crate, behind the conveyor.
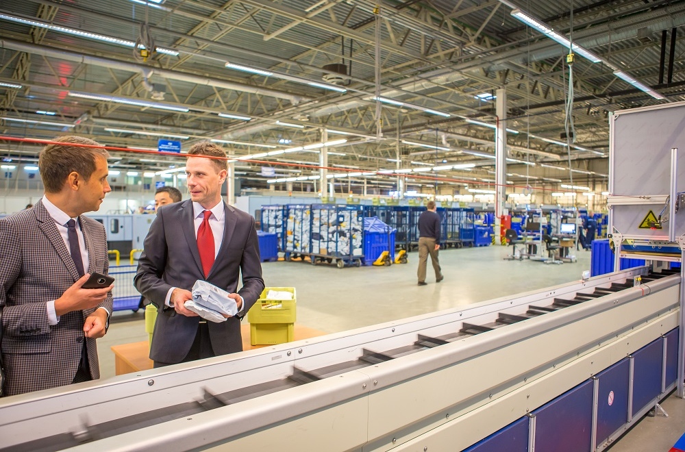
M 242 334 L 242 349 L 260 349 L 262 347 L 269 347 L 268 345 L 251 345 L 250 344 L 250 324 L 242 323 L 240 325 L 240 333 Z M 293 340 L 302 340 L 308 338 L 315 338 L 316 336 L 323 336 L 325 333 L 317 329 L 303 327 L 295 324 L 295 331 L 293 331 Z M 114 373 L 122 375 L 124 373 L 132 373 L 138 371 L 147 371 L 152 368 L 152 360 L 149 358 L 150 347 L 147 340 L 141 342 L 132 342 L 131 344 L 113 345 L 110 347 L 114 352 Z

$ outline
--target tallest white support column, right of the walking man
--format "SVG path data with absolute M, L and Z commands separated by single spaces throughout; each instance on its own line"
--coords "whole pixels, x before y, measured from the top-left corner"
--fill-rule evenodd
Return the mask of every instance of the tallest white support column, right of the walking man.
M 504 88 L 496 91 L 495 108 L 497 129 L 495 129 L 495 243 L 501 244 L 499 217 L 508 212 L 504 208 L 507 183 L 507 94 Z

